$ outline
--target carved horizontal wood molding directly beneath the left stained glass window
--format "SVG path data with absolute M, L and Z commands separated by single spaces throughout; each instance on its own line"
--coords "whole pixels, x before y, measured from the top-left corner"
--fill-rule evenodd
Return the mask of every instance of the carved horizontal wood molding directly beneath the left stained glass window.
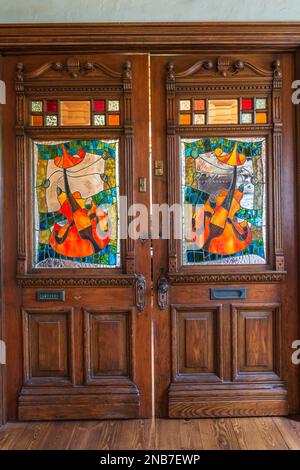
M 119 276 L 102 277 L 42 277 L 27 274 L 17 277 L 20 287 L 131 287 L 135 277 L 120 274 Z

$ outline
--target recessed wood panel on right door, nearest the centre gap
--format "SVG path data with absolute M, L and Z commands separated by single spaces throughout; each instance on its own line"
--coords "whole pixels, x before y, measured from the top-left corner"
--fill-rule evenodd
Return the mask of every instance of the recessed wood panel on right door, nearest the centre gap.
M 175 379 L 221 375 L 219 307 L 173 306 Z

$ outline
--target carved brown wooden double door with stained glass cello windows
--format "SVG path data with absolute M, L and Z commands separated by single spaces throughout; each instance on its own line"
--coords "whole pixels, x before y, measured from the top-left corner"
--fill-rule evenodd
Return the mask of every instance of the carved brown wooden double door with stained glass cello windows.
M 292 54 L 4 65 L 8 419 L 296 411 Z

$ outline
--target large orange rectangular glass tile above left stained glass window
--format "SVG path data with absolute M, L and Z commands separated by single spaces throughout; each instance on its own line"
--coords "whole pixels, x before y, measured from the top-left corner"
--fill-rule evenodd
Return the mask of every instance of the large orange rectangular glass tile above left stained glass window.
M 90 101 L 61 101 L 62 126 L 89 126 L 91 124 Z

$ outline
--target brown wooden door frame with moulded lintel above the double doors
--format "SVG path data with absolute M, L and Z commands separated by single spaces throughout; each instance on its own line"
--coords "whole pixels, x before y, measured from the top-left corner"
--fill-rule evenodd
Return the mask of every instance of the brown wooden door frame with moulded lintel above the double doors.
M 226 34 L 224 34 L 226 33 Z M 178 43 L 180 37 L 180 44 Z M 236 44 L 239 44 L 238 48 Z M 73 51 L 126 53 L 197 53 L 224 49 L 293 52 L 300 72 L 300 22 L 195 22 L 195 23 L 48 23 L 0 25 L 0 54 L 19 55 Z M 296 75 L 297 77 L 297 75 Z M 297 115 L 297 154 L 300 154 L 300 107 Z M 0 151 L 0 158 L 1 158 Z M 300 187 L 300 157 L 297 187 Z M 0 165 L 1 171 L 1 165 Z M 1 175 L 0 175 L 1 180 Z M 1 196 L 1 194 L 0 194 Z M 300 196 L 297 196 L 300 207 Z M 0 214 L 3 198 L 0 201 Z M 300 218 L 299 218 L 300 219 Z M 298 226 L 299 225 L 298 219 Z M 2 220 L 0 218 L 0 231 Z M 299 239 L 299 238 L 298 238 Z M 0 237 L 0 244 L 2 238 Z M 299 247 L 299 242 L 298 242 Z M 0 246 L 0 258 L 1 250 Z M 298 250 L 300 251 L 300 250 Z M 298 258 L 299 259 L 299 258 Z M 2 278 L 0 289 L 3 293 Z M 299 334 L 299 332 L 298 332 Z M 0 304 L 0 335 L 5 341 Z M 5 422 L 5 366 L 0 366 L 0 424 Z M 300 395 L 298 391 L 298 395 Z

